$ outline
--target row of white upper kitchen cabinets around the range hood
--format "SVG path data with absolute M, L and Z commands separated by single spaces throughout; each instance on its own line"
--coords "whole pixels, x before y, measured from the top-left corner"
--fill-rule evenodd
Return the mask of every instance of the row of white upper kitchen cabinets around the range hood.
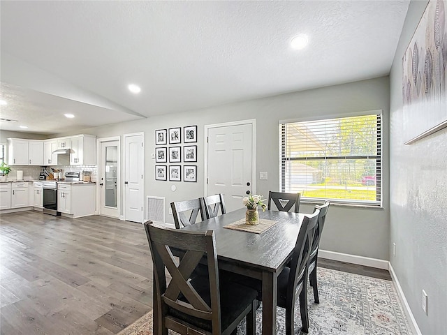
M 58 155 L 53 152 L 58 149 L 70 149 L 70 165 L 96 165 L 94 135 L 75 135 L 50 140 L 8 138 L 8 164 L 57 165 Z

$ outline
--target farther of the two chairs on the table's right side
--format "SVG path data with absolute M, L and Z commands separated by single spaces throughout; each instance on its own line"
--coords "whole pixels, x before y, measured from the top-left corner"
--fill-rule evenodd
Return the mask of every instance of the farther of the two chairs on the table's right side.
M 320 299 L 318 297 L 318 285 L 316 282 L 316 265 L 318 262 L 318 247 L 320 246 L 321 232 L 323 232 L 324 223 L 326 220 L 326 214 L 328 214 L 330 202 L 325 201 L 321 206 L 315 206 L 315 210 L 320 210 L 318 215 L 318 225 L 314 235 L 314 241 L 312 242 L 312 249 L 309 253 L 309 283 L 314 289 L 314 301 L 319 304 Z

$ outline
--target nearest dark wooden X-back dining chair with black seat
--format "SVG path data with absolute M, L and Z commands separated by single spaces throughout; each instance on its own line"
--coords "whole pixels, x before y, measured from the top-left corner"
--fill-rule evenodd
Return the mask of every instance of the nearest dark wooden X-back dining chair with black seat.
M 230 335 L 246 316 L 247 335 L 256 334 L 257 292 L 220 278 L 214 231 L 174 230 L 151 221 L 145 223 L 145 231 L 154 263 L 157 335 L 167 335 L 168 329 L 182 335 Z M 186 253 L 177 261 L 171 248 Z M 204 255 L 209 268 L 207 276 L 191 278 Z M 165 269 L 171 277 L 169 283 Z

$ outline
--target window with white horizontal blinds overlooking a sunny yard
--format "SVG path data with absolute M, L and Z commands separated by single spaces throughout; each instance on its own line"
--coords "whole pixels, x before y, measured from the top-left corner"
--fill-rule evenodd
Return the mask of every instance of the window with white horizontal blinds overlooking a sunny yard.
M 281 191 L 381 205 L 381 114 L 280 124 Z

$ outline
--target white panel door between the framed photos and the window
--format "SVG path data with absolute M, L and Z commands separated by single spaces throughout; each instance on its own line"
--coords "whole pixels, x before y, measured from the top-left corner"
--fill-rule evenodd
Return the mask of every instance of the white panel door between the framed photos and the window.
M 253 134 L 254 121 L 207 129 L 207 195 L 223 193 L 227 211 L 254 190 Z

